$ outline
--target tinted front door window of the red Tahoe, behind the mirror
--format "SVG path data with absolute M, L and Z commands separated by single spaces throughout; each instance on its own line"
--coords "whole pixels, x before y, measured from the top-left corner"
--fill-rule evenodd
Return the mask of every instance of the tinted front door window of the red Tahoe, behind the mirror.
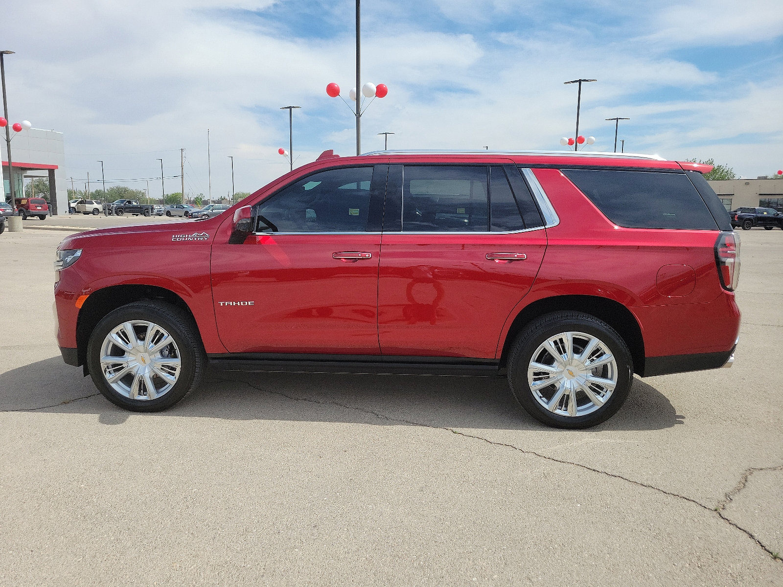
M 258 230 L 364 232 L 372 178 L 373 167 L 340 167 L 301 178 L 256 204 L 255 213 L 263 217 Z

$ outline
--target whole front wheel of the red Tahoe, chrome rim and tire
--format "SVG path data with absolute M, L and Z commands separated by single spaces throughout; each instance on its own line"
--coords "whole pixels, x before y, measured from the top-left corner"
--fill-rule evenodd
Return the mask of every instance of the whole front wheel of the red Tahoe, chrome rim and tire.
M 200 384 L 206 355 L 193 319 L 174 305 L 138 301 L 92 331 L 87 364 L 110 402 L 133 412 L 170 408 Z

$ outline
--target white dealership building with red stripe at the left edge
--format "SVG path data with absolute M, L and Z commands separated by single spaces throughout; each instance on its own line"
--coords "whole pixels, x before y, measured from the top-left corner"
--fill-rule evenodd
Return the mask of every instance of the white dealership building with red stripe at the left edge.
M 11 139 L 12 169 L 9 173 L 8 153 L 2 145 L 2 177 L 6 202 L 11 200 L 13 182 L 16 197 L 24 195 L 24 180 L 48 178 L 49 193 L 35 194 L 51 203 L 52 215 L 68 213 L 68 191 L 65 177 L 65 145 L 63 133 L 31 128 L 13 133 Z

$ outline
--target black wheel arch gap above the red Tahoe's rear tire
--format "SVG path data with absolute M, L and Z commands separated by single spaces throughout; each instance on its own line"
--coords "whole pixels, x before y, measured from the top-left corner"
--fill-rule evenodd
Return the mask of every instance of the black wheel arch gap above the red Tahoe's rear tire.
M 514 338 L 524 330 L 532 320 L 550 312 L 571 310 L 584 312 L 603 320 L 619 333 L 626 341 L 633 358 L 633 371 L 640 376 L 644 375 L 644 337 L 641 333 L 639 322 L 633 313 L 619 301 L 608 297 L 590 295 L 562 295 L 544 297 L 522 308 L 516 315 L 511 327 L 503 340 L 503 351 L 500 354 L 500 366 L 506 366 L 506 359 Z

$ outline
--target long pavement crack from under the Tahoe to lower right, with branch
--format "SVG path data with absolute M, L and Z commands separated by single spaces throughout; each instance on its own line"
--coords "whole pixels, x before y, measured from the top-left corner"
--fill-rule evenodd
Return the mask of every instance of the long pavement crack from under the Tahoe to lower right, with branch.
M 342 404 L 340 402 L 335 402 L 334 400 L 321 401 L 321 400 L 312 399 L 312 398 L 297 398 L 294 395 L 284 394 L 282 391 L 269 391 L 268 389 L 263 389 L 262 387 L 255 386 L 254 384 L 251 384 L 251 383 L 249 383 L 247 381 L 244 381 L 244 380 L 221 380 L 221 379 L 218 379 L 218 381 L 221 381 L 222 383 L 237 383 L 237 382 L 238 383 L 243 383 L 243 384 L 247 385 L 248 387 L 252 387 L 253 389 L 255 389 L 257 391 L 262 391 L 264 393 L 268 393 L 268 394 L 272 394 L 272 395 L 279 395 L 280 397 L 288 398 L 290 400 L 293 400 L 294 402 L 309 402 L 309 403 L 312 403 L 312 404 L 319 404 L 319 405 L 337 405 L 338 407 L 341 407 L 341 408 L 344 408 L 344 409 L 355 410 L 356 412 L 363 412 L 363 413 L 366 413 L 368 415 L 376 416 L 377 418 L 379 418 L 381 420 L 388 420 L 390 422 L 399 422 L 399 423 L 404 423 L 404 424 L 410 424 L 411 426 L 418 426 L 418 427 L 422 427 L 422 428 L 431 428 L 433 430 L 446 430 L 447 432 L 451 432 L 452 434 L 457 434 L 458 436 L 462 436 L 464 438 L 473 438 L 474 440 L 484 441 L 484 442 L 488 443 L 489 445 L 495 445 L 495 446 L 502 446 L 502 447 L 505 447 L 505 448 L 511 448 L 512 450 L 521 452 L 522 454 L 531 455 L 531 456 L 537 456 L 540 459 L 545 459 L 545 460 L 548 460 L 548 461 L 552 461 L 554 463 L 561 463 L 563 465 L 576 466 L 576 467 L 579 467 L 580 469 L 588 470 L 588 471 L 591 471 L 593 473 L 606 475 L 607 477 L 613 477 L 615 479 L 620 479 L 622 481 L 627 481 L 628 483 L 637 485 L 638 487 L 648 488 L 648 489 L 651 489 L 651 490 L 653 490 L 655 492 L 662 493 L 663 495 L 669 495 L 669 497 L 673 497 L 673 498 L 677 498 L 677 499 L 684 499 L 684 501 L 691 502 L 695 506 L 698 506 L 699 508 L 701 508 L 702 510 L 705 510 L 705 511 L 710 512 L 710 513 L 716 513 L 718 515 L 718 517 L 720 517 L 721 520 L 725 521 L 727 524 L 733 526 L 734 528 L 737 528 L 739 531 L 742 531 L 745 535 L 747 535 L 749 538 L 751 538 L 753 542 L 756 542 L 756 545 L 760 546 L 761 549 L 763 549 L 767 554 L 769 554 L 770 557 L 772 558 L 772 560 L 776 560 L 778 562 L 783 562 L 783 559 L 781 559 L 781 557 L 779 556 L 778 553 L 774 553 L 768 546 L 763 544 L 763 542 L 761 542 L 759 540 L 759 538 L 756 538 L 756 535 L 754 535 L 751 531 L 745 530 L 745 528 L 742 528 L 741 526 L 738 526 L 738 524 L 734 523 L 734 521 L 729 520 L 727 517 L 725 517 L 723 515 L 722 508 L 719 509 L 719 507 L 716 506 L 715 508 L 710 509 L 708 506 L 705 506 L 704 504 L 702 504 L 701 502 L 698 502 L 695 499 L 692 499 L 690 497 L 686 497 L 685 495 L 680 495 L 678 493 L 667 492 L 666 489 L 655 487 L 655 485 L 646 484 L 646 483 L 643 483 L 641 481 L 635 481 L 633 479 L 630 479 L 629 477 L 623 477 L 622 475 L 618 475 L 618 474 L 615 474 L 615 473 L 609 473 L 608 471 L 604 471 L 604 470 L 600 470 L 600 469 L 594 469 L 593 467 L 587 466 L 587 465 L 583 465 L 582 463 L 574 463 L 573 461 L 567 461 L 567 460 L 564 460 L 564 459 L 557 459 L 554 456 L 542 455 L 539 452 L 531 451 L 531 450 L 528 450 L 528 449 L 525 449 L 525 448 L 519 448 L 518 446 L 509 445 L 509 444 L 507 444 L 505 442 L 492 441 L 492 440 L 489 440 L 489 438 L 484 438 L 482 436 L 477 436 L 475 434 L 467 434 L 467 432 L 462 432 L 460 430 L 456 430 L 454 428 L 447 427 L 447 426 L 433 426 L 431 424 L 423 424 L 423 423 L 420 423 L 420 422 L 414 422 L 413 420 L 405 420 L 404 418 L 395 418 L 394 416 L 387 416 L 385 414 L 381 414 L 380 412 L 375 412 L 375 411 L 373 411 L 371 409 L 364 409 L 364 408 L 359 408 L 359 407 L 356 407 L 356 406 L 353 406 L 353 405 L 346 405 L 346 404 Z M 774 466 L 774 467 L 767 467 L 767 468 L 770 468 L 770 469 L 783 469 L 783 465 Z M 767 470 L 767 469 L 749 469 L 749 470 L 745 471 L 745 474 L 743 475 L 743 481 L 740 481 L 740 484 L 738 484 L 737 488 L 735 488 L 735 491 L 731 495 L 736 495 L 737 492 L 741 491 L 742 488 L 745 487 L 745 483 L 747 482 L 747 477 L 749 477 L 749 475 L 752 474 L 753 472 L 755 472 L 756 470 Z M 727 494 L 727 496 L 728 496 L 728 494 Z

